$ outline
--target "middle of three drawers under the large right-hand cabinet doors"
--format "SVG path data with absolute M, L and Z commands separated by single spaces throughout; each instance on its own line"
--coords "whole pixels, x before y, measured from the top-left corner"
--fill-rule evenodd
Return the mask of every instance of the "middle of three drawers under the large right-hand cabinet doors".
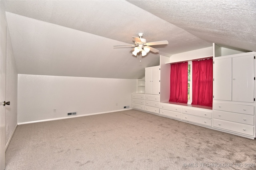
M 250 116 L 248 114 L 239 114 L 214 110 L 213 118 L 254 125 L 254 116 Z

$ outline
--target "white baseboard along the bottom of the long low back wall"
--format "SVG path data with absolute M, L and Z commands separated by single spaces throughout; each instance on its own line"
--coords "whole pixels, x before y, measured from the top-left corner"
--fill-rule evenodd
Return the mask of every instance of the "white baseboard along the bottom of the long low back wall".
M 99 113 L 92 113 L 92 114 L 82 114 L 82 115 L 77 115 L 77 116 L 68 116 L 68 117 L 61 117 L 61 118 L 53 118 L 53 119 L 45 119 L 45 120 L 36 120 L 36 121 L 31 121 L 31 122 L 20 122 L 18 125 L 21 124 L 30 124 L 30 123 L 38 123 L 38 122 L 48 122 L 52 120 L 61 120 L 61 119 L 69 119 L 69 118 L 77 118 L 77 117 L 83 117 L 83 116 L 91 116 L 91 115 L 96 115 L 96 114 L 105 114 L 105 113 L 112 113 L 112 112 L 120 112 L 124 110 L 132 110 L 132 108 L 129 109 L 122 109 L 122 110 L 112 110 L 109 112 L 99 112 Z

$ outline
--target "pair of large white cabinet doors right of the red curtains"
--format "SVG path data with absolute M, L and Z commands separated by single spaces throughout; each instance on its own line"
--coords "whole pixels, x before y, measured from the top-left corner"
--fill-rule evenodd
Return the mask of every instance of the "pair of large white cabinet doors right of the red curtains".
M 254 102 L 254 55 L 237 54 L 214 60 L 214 100 Z

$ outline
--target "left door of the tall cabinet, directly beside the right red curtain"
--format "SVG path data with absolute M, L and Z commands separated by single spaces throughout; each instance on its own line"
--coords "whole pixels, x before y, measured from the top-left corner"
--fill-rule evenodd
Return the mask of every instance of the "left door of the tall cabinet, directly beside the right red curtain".
M 214 60 L 214 99 L 232 100 L 232 58 Z

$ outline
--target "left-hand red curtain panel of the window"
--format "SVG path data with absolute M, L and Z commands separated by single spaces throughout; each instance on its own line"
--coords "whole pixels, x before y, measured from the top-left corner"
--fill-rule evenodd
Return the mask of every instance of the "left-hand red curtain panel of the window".
M 188 62 L 171 64 L 169 102 L 188 103 Z

